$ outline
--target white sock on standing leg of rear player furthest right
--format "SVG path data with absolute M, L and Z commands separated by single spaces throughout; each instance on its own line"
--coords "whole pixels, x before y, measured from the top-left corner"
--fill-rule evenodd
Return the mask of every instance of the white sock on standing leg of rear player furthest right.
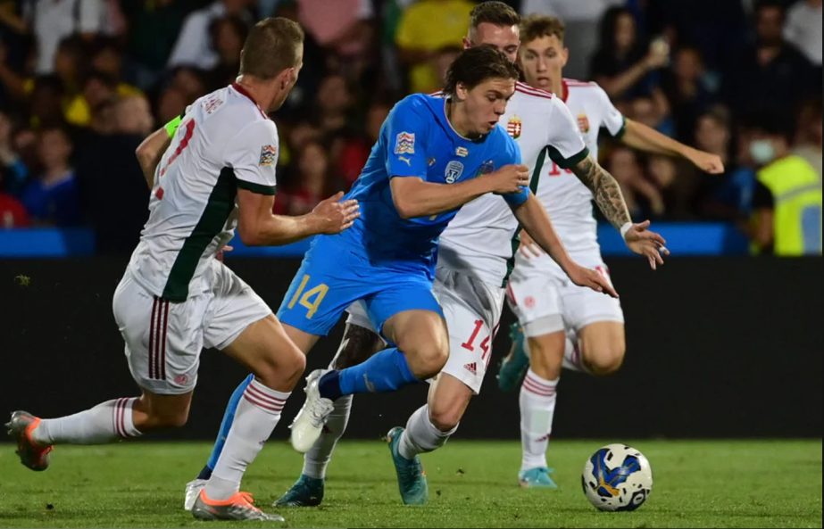
M 520 469 L 546 467 L 546 447 L 553 427 L 555 387 L 560 378 L 546 380 L 531 368 L 520 386 Z

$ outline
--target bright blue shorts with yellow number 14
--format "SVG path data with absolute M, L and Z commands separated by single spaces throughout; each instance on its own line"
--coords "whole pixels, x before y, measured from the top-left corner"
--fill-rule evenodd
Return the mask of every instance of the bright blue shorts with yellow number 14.
M 278 318 L 311 335 L 327 335 L 346 308 L 363 301 L 372 325 L 382 331 L 387 319 L 404 310 L 444 313 L 425 271 L 372 265 L 337 236 L 317 236 L 306 252 Z

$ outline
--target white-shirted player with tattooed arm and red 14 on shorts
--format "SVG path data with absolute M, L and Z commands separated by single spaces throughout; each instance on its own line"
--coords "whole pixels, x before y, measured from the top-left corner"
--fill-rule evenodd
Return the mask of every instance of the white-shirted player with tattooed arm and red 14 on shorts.
M 506 4 L 479 4 L 472 12 L 465 44 L 494 45 L 514 62 L 519 21 L 517 12 Z M 645 224 L 631 224 L 618 184 L 588 156 L 575 121 L 557 97 L 519 83 L 500 125 L 515 116 L 520 116 L 520 126 L 509 132 L 520 145 L 522 160 L 533 170 L 533 185 L 548 152 L 561 167 L 587 178 L 600 197 L 604 214 L 617 227 L 629 223 L 625 238 L 634 252 L 662 262 L 661 236 L 647 231 Z M 430 386 L 428 403 L 412 414 L 405 429 L 393 428 L 387 436 L 404 503 L 428 500 L 418 454 L 436 450 L 454 434 L 472 395 L 480 391 L 504 304 L 507 261 L 512 257 L 516 230 L 517 221 L 501 197 L 487 195 L 464 205 L 440 237 L 434 292 L 447 321 L 449 359 Z M 362 307 L 350 308 L 347 324 L 341 351 L 332 364 L 338 368 L 383 347 Z M 320 503 L 330 454 L 343 434 L 351 405 L 351 397 L 334 401 L 323 433 L 304 457 L 302 475 L 277 504 Z M 190 482 L 187 491 L 194 484 Z

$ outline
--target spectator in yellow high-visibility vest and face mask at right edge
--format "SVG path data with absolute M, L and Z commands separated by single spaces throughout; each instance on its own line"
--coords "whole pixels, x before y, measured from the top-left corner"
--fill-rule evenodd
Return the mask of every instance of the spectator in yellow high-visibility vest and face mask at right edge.
M 780 115 L 754 120 L 750 153 L 758 167 L 750 236 L 753 251 L 821 253 L 821 178 L 790 151 L 793 131 Z

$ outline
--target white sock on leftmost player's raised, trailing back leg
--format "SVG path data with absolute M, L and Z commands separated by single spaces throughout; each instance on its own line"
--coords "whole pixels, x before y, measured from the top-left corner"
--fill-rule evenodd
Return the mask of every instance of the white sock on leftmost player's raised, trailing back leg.
M 137 397 L 124 397 L 67 417 L 41 419 L 32 438 L 41 444 L 103 444 L 137 437 L 140 432 L 132 419 L 135 401 Z

